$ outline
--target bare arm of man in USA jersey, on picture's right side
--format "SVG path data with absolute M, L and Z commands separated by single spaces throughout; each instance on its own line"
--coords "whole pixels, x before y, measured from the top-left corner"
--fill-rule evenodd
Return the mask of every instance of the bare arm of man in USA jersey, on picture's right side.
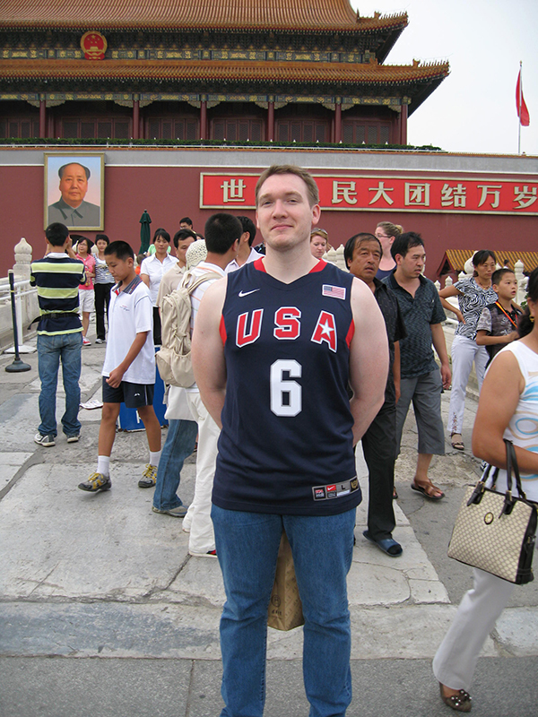
M 386 324 L 374 295 L 363 281 L 351 288 L 355 333 L 350 347 L 350 385 L 353 391 L 353 441 L 358 443 L 385 401 L 388 376 Z

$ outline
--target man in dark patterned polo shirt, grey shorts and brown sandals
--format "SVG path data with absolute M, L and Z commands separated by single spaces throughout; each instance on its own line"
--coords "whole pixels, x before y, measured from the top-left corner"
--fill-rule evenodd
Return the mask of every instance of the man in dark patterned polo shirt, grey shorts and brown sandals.
M 422 276 L 426 251 L 421 235 L 412 231 L 400 235 L 391 246 L 391 254 L 396 268 L 383 281 L 395 292 L 407 331 L 407 337 L 400 343 L 402 393 L 396 406 L 396 454 L 400 453 L 405 417 L 412 402 L 419 432 L 419 456 L 411 487 L 424 497 L 440 500 L 445 494 L 428 478 L 428 469 L 433 454 L 445 454 L 441 391 L 450 386 L 452 378 L 441 325 L 447 316 L 435 285 Z M 440 374 L 432 343 L 441 363 Z

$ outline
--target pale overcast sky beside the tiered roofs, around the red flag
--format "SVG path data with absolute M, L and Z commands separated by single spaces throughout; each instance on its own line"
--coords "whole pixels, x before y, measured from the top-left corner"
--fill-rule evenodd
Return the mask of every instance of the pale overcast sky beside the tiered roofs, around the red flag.
M 361 15 L 407 12 L 386 64 L 448 60 L 450 74 L 408 124 L 410 144 L 447 151 L 517 153 L 516 81 L 531 124 L 521 151 L 538 155 L 538 0 L 351 0 Z

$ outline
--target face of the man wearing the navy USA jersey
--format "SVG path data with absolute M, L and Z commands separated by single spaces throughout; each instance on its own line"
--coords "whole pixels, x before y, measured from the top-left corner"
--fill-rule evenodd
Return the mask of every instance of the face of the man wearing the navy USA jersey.
M 256 225 L 267 246 L 285 251 L 310 241 L 310 230 L 320 216 L 319 205 L 308 202 L 308 190 L 300 177 L 274 174 L 260 187 Z

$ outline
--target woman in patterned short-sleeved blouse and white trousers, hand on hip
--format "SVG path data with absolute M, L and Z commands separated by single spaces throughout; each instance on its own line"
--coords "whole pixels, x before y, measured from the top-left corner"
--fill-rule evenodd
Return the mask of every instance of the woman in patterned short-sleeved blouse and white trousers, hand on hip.
M 491 289 L 491 274 L 495 271 L 495 255 L 487 249 L 476 252 L 473 256 L 473 276 L 456 281 L 439 291 L 441 304 L 447 311 L 456 314 L 456 336 L 452 342 L 452 391 L 448 410 L 448 432 L 452 447 L 464 450 L 462 427 L 464 424 L 465 390 L 471 369 L 476 371 L 478 390 L 482 388 L 484 372 L 488 363 L 488 352 L 484 346 L 478 346 L 476 324 L 482 309 L 497 301 L 497 294 Z M 457 297 L 459 309 L 448 303 L 448 297 Z

